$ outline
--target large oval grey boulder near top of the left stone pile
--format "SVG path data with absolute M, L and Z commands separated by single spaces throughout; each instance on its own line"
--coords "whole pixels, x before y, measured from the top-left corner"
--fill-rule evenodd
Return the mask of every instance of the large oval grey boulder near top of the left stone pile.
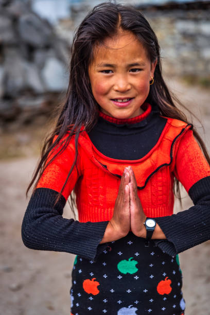
M 32 47 L 50 45 L 53 31 L 51 26 L 34 13 L 24 14 L 17 23 L 20 38 Z

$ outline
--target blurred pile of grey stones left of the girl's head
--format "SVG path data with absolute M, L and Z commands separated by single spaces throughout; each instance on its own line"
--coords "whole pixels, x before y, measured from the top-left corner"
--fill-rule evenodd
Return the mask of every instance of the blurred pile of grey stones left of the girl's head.
M 0 128 L 46 114 L 68 84 L 68 44 L 28 1 L 0 1 Z

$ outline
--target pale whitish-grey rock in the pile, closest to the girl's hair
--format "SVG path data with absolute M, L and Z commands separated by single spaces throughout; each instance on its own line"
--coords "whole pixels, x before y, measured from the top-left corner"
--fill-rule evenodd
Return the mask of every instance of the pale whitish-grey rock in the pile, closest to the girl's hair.
M 66 69 L 58 59 L 49 58 L 42 70 L 42 77 L 49 91 L 66 90 L 68 86 Z

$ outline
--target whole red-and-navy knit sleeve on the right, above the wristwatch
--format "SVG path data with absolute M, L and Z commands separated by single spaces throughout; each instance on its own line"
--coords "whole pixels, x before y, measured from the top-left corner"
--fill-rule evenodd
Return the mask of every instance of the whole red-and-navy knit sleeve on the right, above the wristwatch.
M 174 175 L 194 206 L 178 214 L 155 218 L 167 238 L 155 243 L 171 256 L 210 238 L 210 167 L 191 130 L 182 137 L 174 158 Z

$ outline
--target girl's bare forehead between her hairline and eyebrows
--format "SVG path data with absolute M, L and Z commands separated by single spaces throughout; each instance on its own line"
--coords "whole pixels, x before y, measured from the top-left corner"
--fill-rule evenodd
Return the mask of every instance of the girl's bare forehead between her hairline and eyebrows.
M 102 44 L 94 48 L 95 66 L 101 63 L 133 63 L 136 60 L 149 61 L 143 44 L 129 31 L 121 31 L 113 37 L 106 38 Z

